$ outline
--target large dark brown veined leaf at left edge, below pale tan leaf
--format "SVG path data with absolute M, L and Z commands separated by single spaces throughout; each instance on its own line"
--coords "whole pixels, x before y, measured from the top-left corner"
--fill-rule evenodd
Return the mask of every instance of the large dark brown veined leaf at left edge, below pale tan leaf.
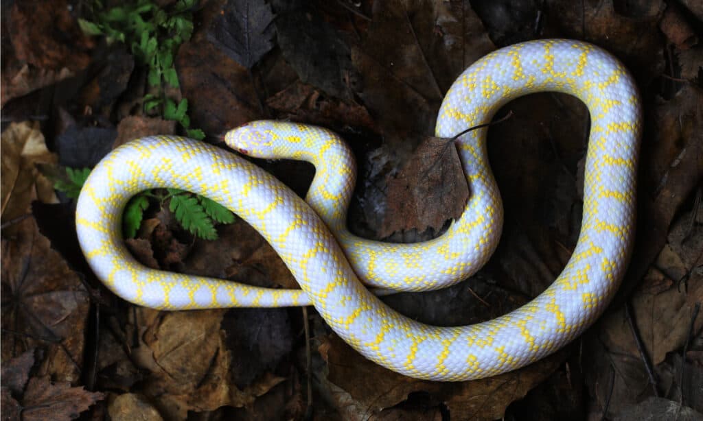
M 87 293 L 32 218 L 15 228 L 2 239 L 2 359 L 45 347 L 41 373 L 75 382 L 84 353 Z

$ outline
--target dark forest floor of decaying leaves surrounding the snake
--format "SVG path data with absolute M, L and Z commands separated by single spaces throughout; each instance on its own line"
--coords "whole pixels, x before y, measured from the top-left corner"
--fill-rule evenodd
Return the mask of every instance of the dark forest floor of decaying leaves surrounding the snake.
M 703 419 L 699 1 L 35 0 L 4 1 L 1 14 L 4 419 Z M 349 143 L 352 232 L 430 239 L 470 195 L 456 153 L 430 138 L 444 94 L 486 53 L 541 38 L 616 55 L 644 109 L 625 279 L 586 333 L 541 361 L 470 382 L 414 380 L 363 359 L 312 307 L 147 309 L 112 294 L 80 252 L 75 199 L 110 150 L 153 134 L 224 147 L 221 133 L 256 119 L 324 126 Z M 501 242 L 463 283 L 383 298 L 418 321 L 505 314 L 574 250 L 588 109 L 540 93 L 496 119 Z M 253 161 L 301 196 L 314 175 L 308 163 Z M 138 260 L 297 288 L 257 232 L 193 197 L 157 189 L 130 202 Z M 176 200 L 200 216 L 174 214 Z

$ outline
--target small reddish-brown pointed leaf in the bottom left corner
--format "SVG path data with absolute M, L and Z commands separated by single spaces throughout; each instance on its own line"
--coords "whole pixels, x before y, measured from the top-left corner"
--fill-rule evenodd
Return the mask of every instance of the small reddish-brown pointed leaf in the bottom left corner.
M 69 382 L 51 382 L 49 376 L 32 377 L 22 399 L 22 420 L 74 420 L 104 397 Z

